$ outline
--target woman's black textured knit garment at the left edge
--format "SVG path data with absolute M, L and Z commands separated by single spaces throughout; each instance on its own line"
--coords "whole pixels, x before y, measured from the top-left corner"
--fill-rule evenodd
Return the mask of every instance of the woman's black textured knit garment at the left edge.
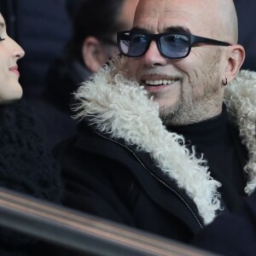
M 59 166 L 44 145 L 40 123 L 21 100 L 0 106 L 0 186 L 61 203 Z M 1 255 L 45 255 L 55 248 L 0 227 Z

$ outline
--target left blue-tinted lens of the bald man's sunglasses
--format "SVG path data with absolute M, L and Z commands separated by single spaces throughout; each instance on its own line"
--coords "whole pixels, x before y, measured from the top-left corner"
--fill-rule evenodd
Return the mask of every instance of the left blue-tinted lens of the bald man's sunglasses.
M 143 55 L 148 46 L 148 39 L 137 33 L 125 33 L 119 36 L 119 49 L 121 53 L 131 57 Z

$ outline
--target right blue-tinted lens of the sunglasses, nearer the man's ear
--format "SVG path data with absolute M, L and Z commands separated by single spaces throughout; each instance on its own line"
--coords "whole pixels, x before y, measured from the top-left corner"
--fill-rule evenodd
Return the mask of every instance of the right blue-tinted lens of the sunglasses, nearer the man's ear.
M 169 58 L 183 58 L 189 52 L 189 38 L 185 35 L 166 34 L 160 37 L 162 54 Z

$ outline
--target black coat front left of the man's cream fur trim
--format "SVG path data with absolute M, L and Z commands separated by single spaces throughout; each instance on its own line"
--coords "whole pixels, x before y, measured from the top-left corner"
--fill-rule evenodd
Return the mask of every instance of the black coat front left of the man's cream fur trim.
M 97 133 L 85 120 L 79 130 L 55 148 L 66 184 L 64 205 L 180 241 L 201 230 L 195 203 L 148 154 Z

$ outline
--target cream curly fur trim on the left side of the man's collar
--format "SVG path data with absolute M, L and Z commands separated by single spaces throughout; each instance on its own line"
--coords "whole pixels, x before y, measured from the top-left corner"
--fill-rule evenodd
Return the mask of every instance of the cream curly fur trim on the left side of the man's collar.
M 195 201 L 205 224 L 211 223 L 220 210 L 217 189 L 221 184 L 210 176 L 204 160 L 197 159 L 195 152 L 189 153 L 183 137 L 166 131 L 157 103 L 148 100 L 147 92 L 136 81 L 117 72 L 116 65 L 120 63 L 112 61 L 82 84 L 75 94 L 80 102 L 76 118 L 90 116 L 100 131 L 148 152 L 162 172 Z

